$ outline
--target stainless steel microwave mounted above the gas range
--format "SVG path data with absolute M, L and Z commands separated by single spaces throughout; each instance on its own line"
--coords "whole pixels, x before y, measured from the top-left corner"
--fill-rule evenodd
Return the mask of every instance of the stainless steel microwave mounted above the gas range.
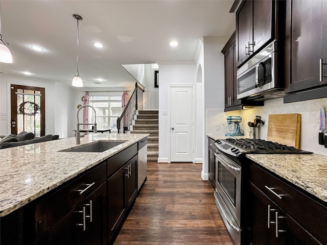
M 284 96 L 284 86 L 278 85 L 276 46 L 276 42 L 270 43 L 237 70 L 237 99 L 270 100 Z

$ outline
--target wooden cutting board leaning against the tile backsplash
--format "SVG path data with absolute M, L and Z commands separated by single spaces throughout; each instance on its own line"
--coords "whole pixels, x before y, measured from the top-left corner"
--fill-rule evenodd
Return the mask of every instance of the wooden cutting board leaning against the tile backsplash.
M 301 114 L 271 114 L 267 140 L 300 148 Z

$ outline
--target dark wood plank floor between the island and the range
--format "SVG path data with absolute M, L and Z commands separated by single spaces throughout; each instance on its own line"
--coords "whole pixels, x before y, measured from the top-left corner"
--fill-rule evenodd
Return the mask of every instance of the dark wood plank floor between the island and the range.
M 148 181 L 114 245 L 232 245 L 202 164 L 148 162 Z

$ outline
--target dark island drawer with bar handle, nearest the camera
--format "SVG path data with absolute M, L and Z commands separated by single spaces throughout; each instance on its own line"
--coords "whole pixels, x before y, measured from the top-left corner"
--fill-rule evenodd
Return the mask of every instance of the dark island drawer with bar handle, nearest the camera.
M 55 225 L 106 180 L 106 162 L 35 204 L 35 237 Z

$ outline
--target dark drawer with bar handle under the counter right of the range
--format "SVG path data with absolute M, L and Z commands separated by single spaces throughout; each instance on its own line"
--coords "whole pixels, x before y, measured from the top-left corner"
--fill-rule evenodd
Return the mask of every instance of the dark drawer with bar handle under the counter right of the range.
M 256 164 L 250 164 L 250 182 L 288 213 L 314 237 L 327 244 L 327 208 L 309 197 L 305 191 L 274 176 Z M 319 220 L 319 221 L 318 221 Z

